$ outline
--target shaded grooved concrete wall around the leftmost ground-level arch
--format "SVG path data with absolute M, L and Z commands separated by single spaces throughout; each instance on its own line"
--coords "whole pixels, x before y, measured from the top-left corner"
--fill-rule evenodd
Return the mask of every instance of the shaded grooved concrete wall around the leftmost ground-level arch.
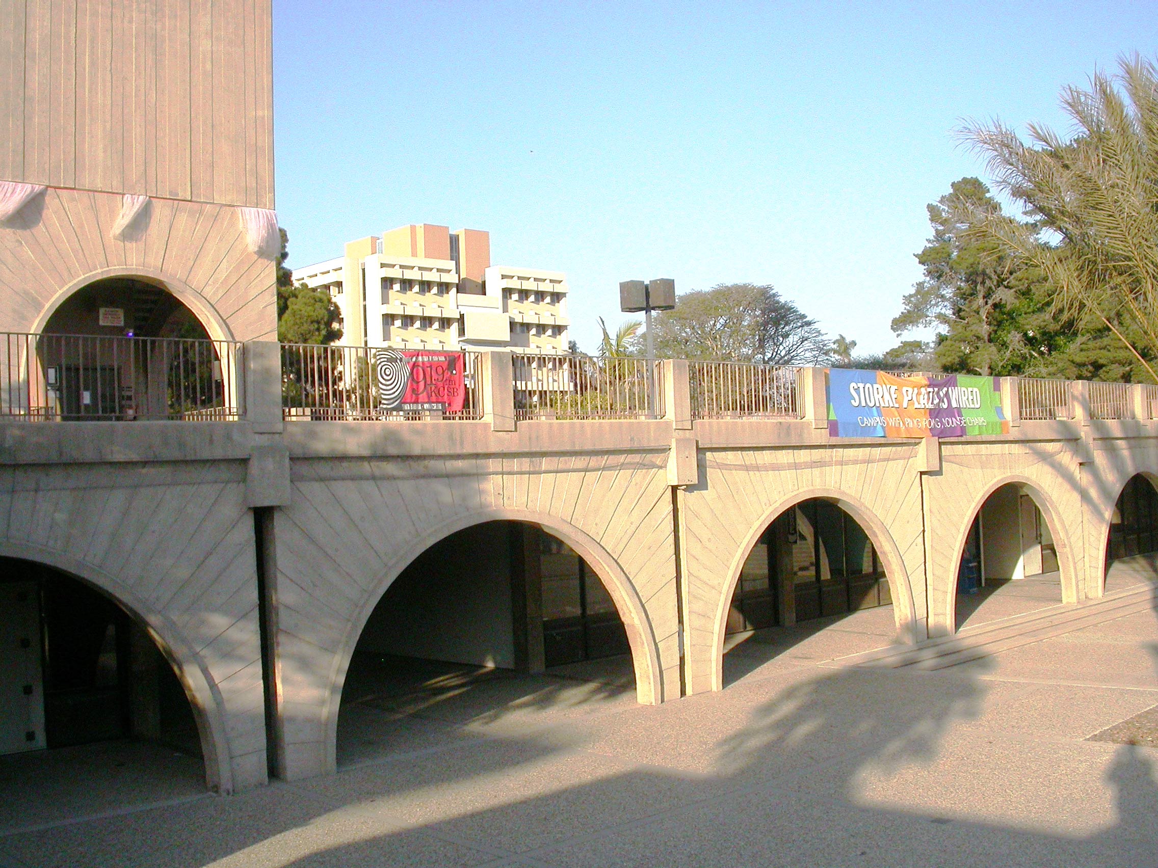
M 242 462 L 0 466 L 0 554 L 135 615 L 175 664 L 210 786 L 265 781 L 254 520 Z

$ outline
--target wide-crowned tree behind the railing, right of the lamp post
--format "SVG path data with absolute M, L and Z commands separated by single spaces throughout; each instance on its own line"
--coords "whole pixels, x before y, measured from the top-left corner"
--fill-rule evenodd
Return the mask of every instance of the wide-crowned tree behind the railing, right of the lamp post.
M 652 324 L 655 354 L 667 359 L 813 365 L 831 347 L 814 319 L 771 286 L 755 284 L 684 293 Z

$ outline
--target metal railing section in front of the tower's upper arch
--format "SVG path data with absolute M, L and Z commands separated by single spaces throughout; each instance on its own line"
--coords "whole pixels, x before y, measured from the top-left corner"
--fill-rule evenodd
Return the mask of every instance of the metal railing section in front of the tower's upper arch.
M 242 344 L 0 333 L 0 417 L 27 421 L 232 421 Z

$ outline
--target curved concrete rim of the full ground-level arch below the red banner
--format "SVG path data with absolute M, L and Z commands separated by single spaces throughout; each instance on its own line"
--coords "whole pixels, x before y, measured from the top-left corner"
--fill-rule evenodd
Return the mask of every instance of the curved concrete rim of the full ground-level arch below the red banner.
M 491 507 L 464 513 L 430 529 L 423 537 L 413 540 L 395 558 L 390 567 L 379 576 L 373 590 L 367 595 L 361 609 L 351 618 L 342 639 L 340 647 L 334 657 L 334 668 L 329 677 L 329 693 L 323 712 L 325 731 L 325 765 L 334 772 L 337 768 L 338 712 L 342 705 L 342 690 L 354 647 L 361 638 L 371 612 L 382 599 L 382 596 L 418 556 L 435 543 L 460 530 L 491 521 L 519 521 L 536 524 L 552 536 L 574 549 L 579 556 L 595 571 L 603 587 L 615 602 L 615 608 L 626 628 L 628 642 L 631 647 L 631 660 L 636 670 L 636 693 L 643 705 L 655 705 L 662 701 L 662 678 L 659 663 L 659 649 L 655 633 L 644 601 L 631 582 L 631 579 L 618 565 L 615 558 L 603 549 L 594 537 L 580 530 L 563 518 L 554 515 L 520 509 L 514 507 Z

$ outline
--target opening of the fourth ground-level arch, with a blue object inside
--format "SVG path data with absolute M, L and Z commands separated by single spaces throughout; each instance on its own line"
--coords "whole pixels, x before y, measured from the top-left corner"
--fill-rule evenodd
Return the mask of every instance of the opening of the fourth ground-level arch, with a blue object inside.
M 1005 483 L 974 513 L 960 550 L 957 628 L 1025 615 L 1063 601 L 1058 542 L 1036 492 Z

